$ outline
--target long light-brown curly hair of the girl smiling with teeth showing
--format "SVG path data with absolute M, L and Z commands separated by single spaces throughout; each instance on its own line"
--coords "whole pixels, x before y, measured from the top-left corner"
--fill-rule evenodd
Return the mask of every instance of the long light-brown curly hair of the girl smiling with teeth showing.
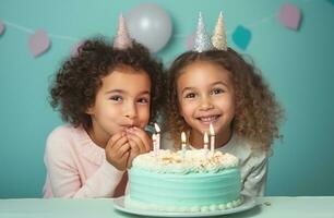
M 232 130 L 236 134 L 253 142 L 252 146 L 269 152 L 273 141 L 282 137 L 278 128 L 284 111 L 276 101 L 274 93 L 261 76 L 261 72 L 230 48 L 227 51 L 188 51 L 179 56 L 170 65 L 167 106 L 164 113 L 165 128 L 169 131 L 176 145 L 180 144 L 180 132 L 191 130 L 179 113 L 177 81 L 182 70 L 195 61 L 215 63 L 231 73 L 236 93 Z

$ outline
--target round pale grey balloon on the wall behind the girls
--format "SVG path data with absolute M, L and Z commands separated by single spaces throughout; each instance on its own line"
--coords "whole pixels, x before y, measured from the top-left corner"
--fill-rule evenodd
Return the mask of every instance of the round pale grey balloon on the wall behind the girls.
M 166 46 L 171 36 L 171 19 L 158 5 L 143 3 L 127 14 L 130 36 L 143 44 L 151 52 Z

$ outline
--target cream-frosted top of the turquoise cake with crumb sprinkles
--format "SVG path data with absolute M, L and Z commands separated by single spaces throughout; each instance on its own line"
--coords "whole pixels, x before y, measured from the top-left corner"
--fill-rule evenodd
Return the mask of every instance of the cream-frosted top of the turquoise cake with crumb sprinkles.
M 132 167 L 160 173 L 198 173 L 217 172 L 238 166 L 238 158 L 222 152 L 211 153 L 207 149 L 178 150 L 159 149 L 139 155 L 133 159 Z

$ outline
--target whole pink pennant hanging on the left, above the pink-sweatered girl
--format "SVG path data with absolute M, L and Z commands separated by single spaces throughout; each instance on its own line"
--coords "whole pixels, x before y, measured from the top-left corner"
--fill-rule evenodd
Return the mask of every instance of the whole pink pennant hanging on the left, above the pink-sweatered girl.
M 28 46 L 31 53 L 33 53 L 35 58 L 46 52 L 50 47 L 50 39 L 46 31 L 40 29 L 35 32 L 35 34 L 29 37 Z

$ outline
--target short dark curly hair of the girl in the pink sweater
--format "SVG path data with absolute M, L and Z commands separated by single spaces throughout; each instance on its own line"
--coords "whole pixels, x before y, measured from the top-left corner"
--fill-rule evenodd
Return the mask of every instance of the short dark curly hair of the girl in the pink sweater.
M 77 55 L 65 60 L 58 70 L 49 88 L 50 105 L 60 111 L 63 121 L 74 126 L 92 128 L 92 119 L 86 110 L 95 102 L 102 78 L 123 65 L 148 74 L 152 84 L 150 122 L 153 122 L 162 105 L 163 64 L 135 41 L 131 48 L 123 50 L 114 48 L 103 37 L 84 41 L 79 47 Z

